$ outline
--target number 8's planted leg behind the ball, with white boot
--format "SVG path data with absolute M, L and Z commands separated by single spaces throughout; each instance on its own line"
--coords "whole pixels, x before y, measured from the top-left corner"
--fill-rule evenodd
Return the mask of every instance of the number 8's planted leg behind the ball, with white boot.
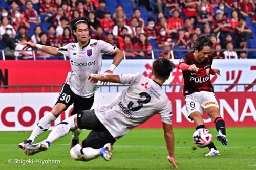
M 193 122 L 196 126 L 196 130 L 200 129 L 200 128 L 206 129 L 204 122 L 203 122 L 203 116 L 200 112 L 198 112 L 198 111 L 193 112 L 189 115 L 189 117 L 193 120 Z M 210 152 L 208 154 L 206 154 L 205 156 L 220 155 L 220 152 L 215 147 L 214 142 L 211 142 L 210 144 L 208 144 L 207 147 L 209 148 Z

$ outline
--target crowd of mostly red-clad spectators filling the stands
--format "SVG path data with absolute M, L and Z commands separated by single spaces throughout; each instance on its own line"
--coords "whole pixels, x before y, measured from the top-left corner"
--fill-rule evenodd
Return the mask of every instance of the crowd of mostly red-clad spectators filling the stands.
M 233 49 L 247 49 L 248 40 L 256 35 L 247 25 L 256 24 L 255 1 L 252 0 L 2 1 L 1 49 L 20 50 L 19 43 L 25 41 L 54 47 L 75 42 L 67 23 L 81 16 L 88 17 L 91 22 L 92 39 L 115 45 L 131 58 L 150 58 L 151 50 L 156 48 L 163 50 L 157 56 L 180 58 L 179 52 L 173 53 L 170 49 L 191 49 L 200 34 L 211 34 L 215 58 L 244 59 L 246 51 Z M 117 4 L 114 11 L 110 10 L 113 9 L 110 4 Z M 129 16 L 125 4 L 132 4 L 132 8 L 127 7 L 133 10 L 132 13 L 128 11 Z M 146 15 L 144 11 L 142 15 L 142 9 L 146 9 Z M 9 52 L 7 55 L 17 57 L 31 53 Z M 49 57 L 39 51 L 36 56 Z

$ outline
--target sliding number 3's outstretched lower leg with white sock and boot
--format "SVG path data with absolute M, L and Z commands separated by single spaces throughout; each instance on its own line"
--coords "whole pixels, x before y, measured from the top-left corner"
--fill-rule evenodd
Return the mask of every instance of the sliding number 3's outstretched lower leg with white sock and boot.
M 63 120 L 61 123 L 59 123 L 53 128 L 53 130 L 48 135 L 46 140 L 36 144 L 31 144 L 28 147 L 26 147 L 24 150 L 25 154 L 34 155 L 38 152 L 46 151 L 51 145 L 51 143 L 53 143 L 55 140 L 63 136 L 66 136 L 70 132 L 70 130 L 77 129 L 75 121 L 76 114 Z

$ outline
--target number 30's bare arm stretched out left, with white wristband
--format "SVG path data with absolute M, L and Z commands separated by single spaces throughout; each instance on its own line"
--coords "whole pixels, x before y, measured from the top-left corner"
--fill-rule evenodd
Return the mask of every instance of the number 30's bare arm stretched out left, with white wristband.
M 52 46 L 46 46 L 46 45 L 40 45 L 40 44 L 35 44 L 32 42 L 23 42 L 20 43 L 22 45 L 25 45 L 22 50 L 27 50 L 28 48 L 38 48 L 39 50 L 42 50 L 52 56 L 60 56 L 62 55 L 61 53 L 58 52 L 58 48 L 52 47 Z

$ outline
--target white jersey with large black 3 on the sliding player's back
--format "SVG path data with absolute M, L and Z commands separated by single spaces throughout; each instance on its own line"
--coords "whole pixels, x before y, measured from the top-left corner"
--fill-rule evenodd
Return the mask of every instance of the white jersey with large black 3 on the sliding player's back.
M 172 105 L 158 83 L 141 74 L 122 74 L 120 80 L 130 86 L 112 104 L 95 109 L 95 115 L 115 139 L 155 114 L 160 114 L 162 122 L 172 124 Z

